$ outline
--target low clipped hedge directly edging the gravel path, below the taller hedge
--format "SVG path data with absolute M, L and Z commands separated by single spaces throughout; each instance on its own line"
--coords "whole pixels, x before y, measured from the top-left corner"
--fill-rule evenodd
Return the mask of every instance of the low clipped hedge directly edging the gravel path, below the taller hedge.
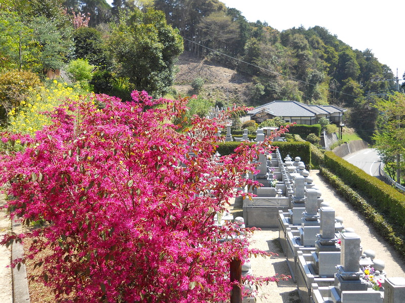
M 320 173 L 336 190 L 359 210 L 378 232 L 386 238 L 395 249 L 405 257 L 405 232 L 403 226 L 392 223 L 389 224 L 375 207 L 370 205 L 367 198 L 363 197 L 350 186 L 346 185 L 338 176 L 325 167 L 320 167 Z

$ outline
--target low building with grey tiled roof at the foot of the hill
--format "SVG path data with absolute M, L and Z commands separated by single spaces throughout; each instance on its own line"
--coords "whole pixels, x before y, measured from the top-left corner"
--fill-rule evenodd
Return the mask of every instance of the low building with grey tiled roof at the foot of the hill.
M 320 118 L 327 118 L 340 125 L 346 110 L 334 105 L 306 105 L 297 101 L 273 101 L 248 112 L 251 120 L 261 123 L 267 119 L 280 117 L 286 122 L 313 125 Z

